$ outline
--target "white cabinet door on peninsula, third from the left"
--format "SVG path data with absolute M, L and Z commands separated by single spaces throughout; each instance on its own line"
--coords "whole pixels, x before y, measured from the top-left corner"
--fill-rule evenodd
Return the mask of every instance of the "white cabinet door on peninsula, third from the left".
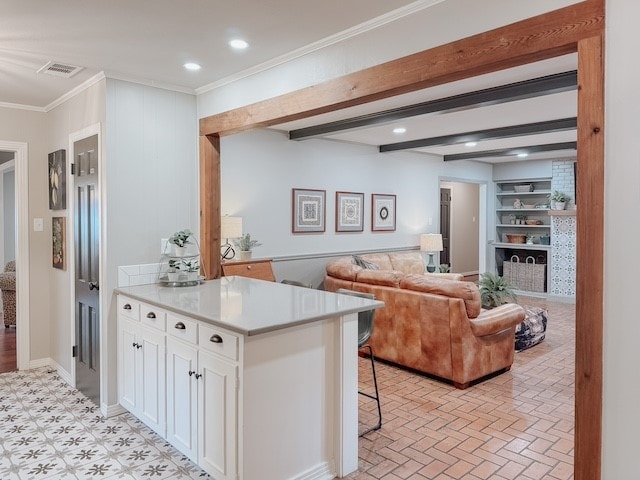
M 167 440 L 197 462 L 197 350 L 167 338 Z

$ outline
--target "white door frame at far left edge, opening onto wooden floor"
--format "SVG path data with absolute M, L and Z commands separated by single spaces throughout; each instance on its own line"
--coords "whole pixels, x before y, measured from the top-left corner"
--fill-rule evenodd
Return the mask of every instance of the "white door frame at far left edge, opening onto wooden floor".
M 29 343 L 29 146 L 26 142 L 0 140 L 0 150 L 15 157 L 16 201 L 16 360 L 18 370 L 28 370 L 31 363 Z M 20 300 L 22 299 L 22 300 Z M 26 299 L 26 301 L 24 300 Z

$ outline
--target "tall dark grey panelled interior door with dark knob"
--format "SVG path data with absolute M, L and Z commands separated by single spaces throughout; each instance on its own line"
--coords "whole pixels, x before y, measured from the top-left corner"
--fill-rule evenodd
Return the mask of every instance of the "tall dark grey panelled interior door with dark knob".
M 100 404 L 98 136 L 74 143 L 76 388 Z

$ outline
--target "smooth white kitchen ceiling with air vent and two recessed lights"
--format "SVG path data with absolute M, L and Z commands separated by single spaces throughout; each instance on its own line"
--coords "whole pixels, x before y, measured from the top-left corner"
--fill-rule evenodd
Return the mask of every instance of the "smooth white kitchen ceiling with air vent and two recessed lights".
M 435 2 L 348 3 L 349 8 L 343 0 L 0 0 L 0 102 L 45 108 L 101 71 L 195 92 L 340 38 L 333 37 L 364 22 L 388 21 L 414 4 Z M 250 47 L 232 50 L 227 42 L 236 37 Z M 52 60 L 84 70 L 68 79 L 36 73 Z M 185 62 L 202 69 L 186 71 Z

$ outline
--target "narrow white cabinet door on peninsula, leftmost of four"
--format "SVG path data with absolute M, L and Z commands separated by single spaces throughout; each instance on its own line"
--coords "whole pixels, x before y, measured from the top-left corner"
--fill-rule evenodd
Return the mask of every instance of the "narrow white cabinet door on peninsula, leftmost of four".
M 120 405 L 137 415 L 137 322 L 133 322 L 121 316 L 118 321 L 118 330 L 118 377 Z

